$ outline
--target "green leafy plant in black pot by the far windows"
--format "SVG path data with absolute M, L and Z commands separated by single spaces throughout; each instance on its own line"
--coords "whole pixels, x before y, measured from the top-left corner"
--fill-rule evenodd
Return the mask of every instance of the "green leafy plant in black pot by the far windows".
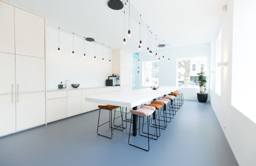
M 199 72 L 198 73 L 198 83 L 200 86 L 200 93 L 198 93 L 198 101 L 199 102 L 207 101 L 208 94 L 205 93 L 206 82 L 207 82 L 207 77 L 205 76 L 205 72 L 204 71 Z

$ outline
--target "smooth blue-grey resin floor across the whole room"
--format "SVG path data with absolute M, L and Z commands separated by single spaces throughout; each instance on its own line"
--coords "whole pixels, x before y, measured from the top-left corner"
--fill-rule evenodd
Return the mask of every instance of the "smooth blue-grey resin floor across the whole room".
M 186 100 L 150 151 L 129 127 L 97 136 L 99 110 L 0 138 L 0 165 L 238 165 L 210 103 Z M 107 118 L 107 114 L 105 116 Z M 136 143 L 146 145 L 146 139 Z

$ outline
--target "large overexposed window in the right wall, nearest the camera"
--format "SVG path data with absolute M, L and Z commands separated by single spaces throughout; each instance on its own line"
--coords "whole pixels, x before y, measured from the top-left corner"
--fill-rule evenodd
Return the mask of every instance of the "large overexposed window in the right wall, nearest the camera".
M 256 61 L 256 1 L 237 1 L 234 3 L 232 66 L 223 68 L 223 79 L 232 68 L 231 103 L 238 111 L 256 123 L 255 109 L 255 61 Z M 231 51 L 231 50 L 230 50 Z M 227 61 L 229 55 L 223 55 Z M 224 82 L 224 81 L 223 81 Z M 227 91 L 229 92 L 229 91 Z M 245 92 L 245 94 L 241 94 Z M 254 131 L 255 132 L 255 131 Z

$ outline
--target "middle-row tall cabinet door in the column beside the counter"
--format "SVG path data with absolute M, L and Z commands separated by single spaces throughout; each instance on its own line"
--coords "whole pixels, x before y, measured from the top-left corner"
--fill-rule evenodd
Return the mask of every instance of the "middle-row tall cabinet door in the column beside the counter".
M 45 59 L 16 55 L 17 92 L 45 91 Z

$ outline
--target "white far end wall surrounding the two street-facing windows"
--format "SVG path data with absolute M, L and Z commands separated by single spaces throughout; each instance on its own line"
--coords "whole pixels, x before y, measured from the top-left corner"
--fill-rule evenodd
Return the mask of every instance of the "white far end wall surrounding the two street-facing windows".
M 182 58 L 193 58 L 193 57 L 205 57 L 206 63 L 206 76 L 210 76 L 210 48 L 211 44 L 200 44 L 184 46 L 179 48 L 165 49 L 165 59 L 159 61 L 159 86 L 176 86 L 177 79 L 177 59 Z M 155 61 L 158 60 L 154 58 L 153 55 L 149 53 L 139 53 L 140 56 L 140 82 L 139 86 L 142 87 L 142 62 L 143 61 Z M 158 56 L 163 56 L 162 51 L 157 52 Z M 171 60 L 168 61 L 168 58 Z M 210 80 L 208 79 L 207 90 L 209 90 Z M 199 92 L 199 87 L 185 87 L 181 89 L 184 92 L 184 98 L 188 100 L 197 100 L 196 93 Z

